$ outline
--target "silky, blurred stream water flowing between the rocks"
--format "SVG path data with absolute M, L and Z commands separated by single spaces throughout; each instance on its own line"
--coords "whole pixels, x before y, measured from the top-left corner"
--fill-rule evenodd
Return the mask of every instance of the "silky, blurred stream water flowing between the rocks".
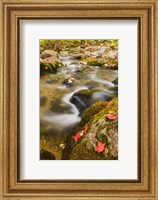
M 59 136 L 60 144 L 61 138 L 81 120 L 79 109 L 70 102 L 73 94 L 80 90 L 93 89 L 111 97 L 117 96 L 112 82 L 118 77 L 118 71 L 87 66 L 68 55 L 59 59 L 64 63 L 64 67 L 56 74 L 40 77 L 40 134 L 47 136 L 47 139 Z M 69 78 L 73 78 L 70 80 L 71 84 L 63 83 Z M 100 98 L 102 93 L 95 95 Z M 80 106 L 84 107 L 85 102 L 77 96 L 75 98 Z

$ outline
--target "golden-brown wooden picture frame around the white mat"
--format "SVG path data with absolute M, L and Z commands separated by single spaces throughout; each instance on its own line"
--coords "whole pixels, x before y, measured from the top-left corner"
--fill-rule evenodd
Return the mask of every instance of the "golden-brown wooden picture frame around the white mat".
M 1 1 L 1 199 L 158 200 L 158 4 L 150 0 Z M 82 16 L 82 17 L 81 17 Z M 140 174 L 136 181 L 20 180 L 19 28 L 22 19 L 138 19 Z

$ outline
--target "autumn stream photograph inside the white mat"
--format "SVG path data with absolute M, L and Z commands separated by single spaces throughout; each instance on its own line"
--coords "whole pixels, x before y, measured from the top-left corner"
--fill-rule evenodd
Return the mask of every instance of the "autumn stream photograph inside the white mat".
M 40 40 L 40 160 L 118 160 L 118 40 Z

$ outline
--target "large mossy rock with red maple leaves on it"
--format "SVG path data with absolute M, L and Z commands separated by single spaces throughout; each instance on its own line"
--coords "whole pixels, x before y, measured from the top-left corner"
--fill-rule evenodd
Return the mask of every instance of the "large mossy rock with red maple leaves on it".
M 97 102 L 85 110 L 77 131 L 82 134 L 74 140 L 71 160 L 117 160 L 118 99 Z M 99 143 L 104 146 L 101 152 L 98 151 Z

